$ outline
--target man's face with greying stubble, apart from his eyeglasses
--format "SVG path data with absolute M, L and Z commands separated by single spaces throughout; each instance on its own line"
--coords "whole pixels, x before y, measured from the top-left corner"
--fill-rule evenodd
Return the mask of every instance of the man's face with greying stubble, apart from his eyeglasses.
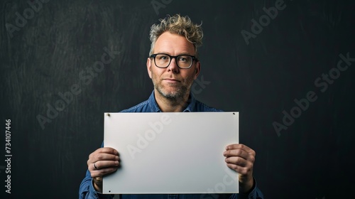
M 155 41 L 153 53 L 168 55 L 195 55 L 195 47 L 187 41 L 185 36 L 166 31 Z M 175 59 L 171 60 L 168 68 L 158 68 L 154 60 L 148 58 L 147 69 L 149 77 L 153 80 L 155 95 L 167 99 L 178 99 L 188 96 L 194 80 L 200 73 L 200 62 L 194 61 L 191 68 L 181 69 L 176 65 Z

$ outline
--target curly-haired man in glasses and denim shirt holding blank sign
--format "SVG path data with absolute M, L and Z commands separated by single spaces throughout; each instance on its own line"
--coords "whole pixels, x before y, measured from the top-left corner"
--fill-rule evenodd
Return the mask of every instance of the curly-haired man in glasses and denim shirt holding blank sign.
M 202 28 L 188 16 L 168 16 L 151 27 L 148 75 L 154 90 L 148 100 L 122 112 L 218 112 L 197 101 L 190 92 L 200 73 L 197 48 L 202 45 Z M 226 146 L 226 166 L 239 173 L 239 194 L 121 195 L 121 198 L 263 198 L 253 178 L 255 151 L 243 144 Z M 119 151 L 105 147 L 87 161 L 87 175 L 80 185 L 80 198 L 111 198 L 102 194 L 102 176 L 119 168 Z

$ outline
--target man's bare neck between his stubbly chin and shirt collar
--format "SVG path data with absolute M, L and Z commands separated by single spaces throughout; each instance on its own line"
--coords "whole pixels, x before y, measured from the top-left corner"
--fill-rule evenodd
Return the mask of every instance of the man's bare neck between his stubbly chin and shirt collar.
M 190 92 L 186 92 L 183 97 L 170 99 L 154 90 L 155 100 L 162 112 L 182 112 L 187 107 L 189 95 Z

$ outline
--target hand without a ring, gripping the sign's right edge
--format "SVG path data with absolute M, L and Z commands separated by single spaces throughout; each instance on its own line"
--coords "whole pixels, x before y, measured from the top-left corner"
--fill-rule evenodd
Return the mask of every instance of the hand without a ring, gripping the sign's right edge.
M 255 151 L 244 144 L 231 144 L 226 146 L 223 156 L 226 157 L 226 166 L 239 173 L 239 191 L 249 193 L 254 183 Z

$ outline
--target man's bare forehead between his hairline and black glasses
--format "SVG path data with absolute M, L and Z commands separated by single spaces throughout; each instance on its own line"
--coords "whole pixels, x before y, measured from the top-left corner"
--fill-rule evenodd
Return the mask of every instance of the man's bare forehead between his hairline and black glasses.
M 187 41 L 185 36 L 166 31 L 155 41 L 153 53 L 168 53 L 170 55 L 186 53 L 195 55 L 195 46 L 190 41 Z

